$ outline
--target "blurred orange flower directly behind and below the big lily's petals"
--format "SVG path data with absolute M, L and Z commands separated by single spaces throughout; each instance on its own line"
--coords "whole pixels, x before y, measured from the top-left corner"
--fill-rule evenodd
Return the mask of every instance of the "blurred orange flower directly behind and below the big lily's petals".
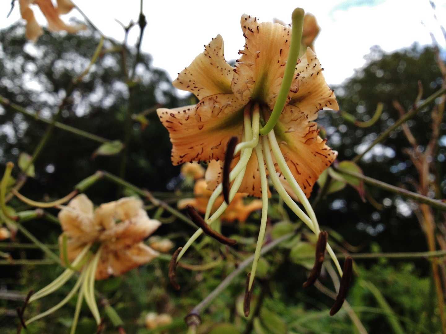
M 212 191 L 206 189 L 206 180 L 199 179 L 194 186 L 195 197 L 185 198 L 178 201 L 178 208 L 182 210 L 186 208 L 186 205 L 192 205 L 195 209 L 198 210 L 198 212 L 204 214 L 206 212 L 207 203 L 209 202 L 209 198 L 211 197 L 211 195 Z M 246 193 L 236 193 L 234 199 L 220 216 L 220 219 L 228 222 L 238 220 L 244 223 L 248 219 L 248 216 L 251 214 L 251 212 L 260 210 L 262 208 L 261 200 L 252 200 L 249 204 L 244 204 L 244 198 L 247 196 L 248 194 Z M 215 200 L 211 213 L 214 213 L 215 210 L 217 210 L 222 203 L 223 195 L 220 195 Z

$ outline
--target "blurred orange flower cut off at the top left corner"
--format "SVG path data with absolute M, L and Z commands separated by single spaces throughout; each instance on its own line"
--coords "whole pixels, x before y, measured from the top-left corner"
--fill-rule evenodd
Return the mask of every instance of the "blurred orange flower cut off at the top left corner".
M 68 33 L 77 33 L 79 30 L 86 29 L 83 24 L 68 25 L 63 22 L 60 15 L 67 14 L 74 8 L 70 0 L 57 0 L 57 7 L 51 0 L 19 0 L 20 13 L 23 19 L 27 21 L 25 36 L 35 42 L 43 34 L 41 26 L 34 17 L 33 10 L 29 8 L 30 4 L 37 4 L 48 20 L 48 29 L 51 31 L 65 30 Z

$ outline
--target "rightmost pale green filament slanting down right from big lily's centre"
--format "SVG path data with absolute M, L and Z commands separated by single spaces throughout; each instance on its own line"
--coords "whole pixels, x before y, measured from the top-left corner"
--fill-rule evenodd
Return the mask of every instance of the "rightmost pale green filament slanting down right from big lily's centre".
M 293 174 L 289 170 L 288 164 L 286 163 L 285 158 L 283 157 L 283 154 L 279 147 L 279 144 L 277 143 L 276 134 L 274 133 L 274 130 L 268 134 L 268 139 L 269 143 L 271 144 L 271 151 L 273 151 L 273 154 L 276 157 L 277 164 L 279 165 L 282 174 L 285 176 L 285 179 L 288 181 L 289 185 L 293 189 L 297 198 L 301 201 L 308 216 L 313 222 L 314 229 L 318 231 L 317 234 L 319 234 L 319 224 L 316 218 L 316 214 L 314 213 L 313 207 L 311 206 L 309 200 L 302 191 L 302 188 L 297 183 L 296 179 L 294 179 Z

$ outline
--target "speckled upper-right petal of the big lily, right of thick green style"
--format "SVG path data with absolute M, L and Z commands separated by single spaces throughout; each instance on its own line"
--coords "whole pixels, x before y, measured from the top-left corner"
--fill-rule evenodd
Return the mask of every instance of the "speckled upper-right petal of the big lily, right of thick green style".
M 301 112 L 307 114 L 308 121 L 318 118 L 318 111 L 324 107 L 339 110 L 335 93 L 328 87 L 322 70 L 313 50 L 307 48 L 296 70 L 299 73 L 299 90 L 289 104 L 299 107 Z

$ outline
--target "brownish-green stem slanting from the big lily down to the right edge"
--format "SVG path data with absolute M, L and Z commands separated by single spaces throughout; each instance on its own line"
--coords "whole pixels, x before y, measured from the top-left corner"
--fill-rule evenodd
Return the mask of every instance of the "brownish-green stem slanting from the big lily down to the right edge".
M 370 184 L 372 186 L 378 187 L 383 190 L 393 192 L 393 193 L 401 195 L 403 197 L 410 198 L 412 200 L 416 200 L 419 203 L 428 204 L 431 207 L 439 209 L 441 211 L 446 211 L 446 203 L 441 200 L 435 200 L 433 198 L 417 194 L 416 192 L 408 191 L 408 190 L 405 190 L 400 187 L 395 187 L 395 186 L 392 186 L 391 184 L 384 183 L 384 182 L 381 182 L 376 179 L 372 179 L 371 177 L 364 176 L 362 174 L 356 173 L 354 171 L 349 171 L 344 168 L 339 168 L 339 167 L 333 167 L 333 168 L 335 169 L 335 171 L 339 171 L 340 173 L 351 175 L 351 176 L 356 177 L 360 180 L 363 180 L 364 183 Z

